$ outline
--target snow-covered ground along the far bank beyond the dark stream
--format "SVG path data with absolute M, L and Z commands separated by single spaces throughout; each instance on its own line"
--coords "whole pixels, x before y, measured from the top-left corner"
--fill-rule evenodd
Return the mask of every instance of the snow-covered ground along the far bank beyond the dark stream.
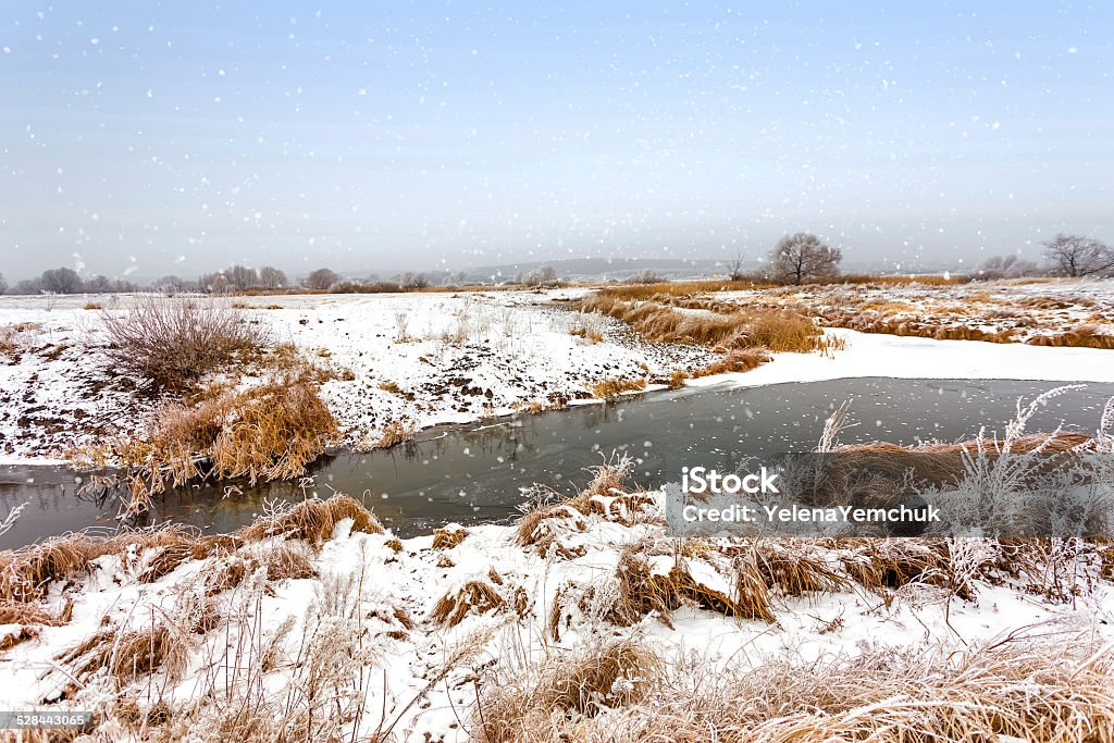
M 885 292 L 893 302 L 919 302 L 921 293 L 942 302 L 941 291 L 952 303 L 973 301 L 976 291 L 989 292 L 999 304 L 1016 304 L 1018 296 L 1044 297 L 1035 303 L 1048 304 L 1049 296 L 1061 296 L 1073 297 L 1072 307 L 1089 303 L 1091 315 L 1114 312 L 1114 292 L 1104 282 L 973 287 Z M 583 291 L 275 295 L 229 302 L 267 327 L 276 343 L 293 343 L 339 372 L 322 394 L 340 420 L 344 442 L 353 446 L 373 443 L 400 421 L 423 428 L 561 407 L 590 399 L 592 387 L 608 378 L 653 382 L 716 358 L 709 349 L 645 343 L 622 323 L 584 317 L 557 302 Z M 881 290 L 822 287 L 825 297 L 863 291 Z M 800 293 L 715 299 L 781 302 Z M 97 307 L 120 312 L 133 301 L 0 297 L 0 329 L 7 329 L 12 349 L 0 354 L 7 362 L 0 363 L 0 461 L 51 461 L 75 446 L 141 433 L 149 424 L 156 401 L 133 394 L 136 381 L 115 374 L 99 356 L 104 338 Z M 1042 312 L 1052 314 L 1040 322 L 1055 327 L 1079 320 L 1076 310 Z M 598 330 L 602 340 L 573 334 L 584 325 Z M 746 385 L 853 377 L 1114 381 L 1114 352 L 1106 350 L 828 332 L 847 339 L 847 349 L 829 355 L 775 354 L 772 363 L 729 378 Z M 715 381 L 722 378 L 688 383 Z

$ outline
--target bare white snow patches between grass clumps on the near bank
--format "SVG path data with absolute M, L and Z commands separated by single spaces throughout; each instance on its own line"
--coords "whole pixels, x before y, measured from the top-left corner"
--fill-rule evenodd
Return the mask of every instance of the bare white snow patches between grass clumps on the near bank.
M 627 527 L 602 516 L 585 517 L 584 530 L 573 531 L 586 551 L 569 560 L 540 557 L 532 547 L 519 546 L 511 527 L 469 529 L 461 544 L 447 550 L 432 549 L 429 537 L 419 537 L 404 540 L 401 551 L 388 545 L 390 534 L 352 534 L 348 528 L 338 528 L 319 551 L 307 553 L 319 577 L 266 581 L 257 599 L 253 598 L 251 580 L 217 596 L 226 617 L 248 607 L 246 625 L 222 625 L 211 633 L 212 637 L 189 639 L 192 656 L 186 676 L 176 683 L 160 674 L 150 682 L 140 678 L 137 684 L 145 690 L 140 698 L 166 698 L 175 704 L 195 698 L 204 686 L 206 667 L 225 667 L 225 653 L 232 661 L 243 652 L 244 643 L 268 641 L 290 623 L 294 628 L 278 643 L 280 662 L 266 678 L 268 690 L 281 692 L 294 673 L 294 666 L 284 658 L 300 652 L 301 633 L 325 626 L 322 622 L 339 622 L 338 617 L 314 612 L 330 602 L 344 605 L 348 599 L 335 594 L 343 586 L 348 586 L 343 590 L 354 592 L 352 600 L 359 608 L 354 616 L 360 617 L 363 643 L 374 658 L 370 666 L 374 683 L 365 702 L 372 717 L 365 724 L 372 726 L 381 708 L 385 707 L 390 718 L 421 694 L 458 642 L 481 643 L 481 657 L 499 657 L 508 647 L 530 655 L 567 651 L 597 633 L 626 635 L 656 647 L 664 657 L 684 653 L 715 668 L 727 663 L 736 667 L 758 665 L 771 655 L 791 654 L 810 661 L 879 645 L 961 649 L 1023 628 L 1033 632 L 1036 626 L 1074 627 L 1095 633 L 1098 642 L 1114 639 L 1114 593 L 1110 584 L 1098 583 L 1074 602 L 1056 604 L 1009 580 L 979 583 L 975 600 L 952 598 L 950 605 L 940 589 L 917 584 L 892 594 L 890 600 L 861 586 L 797 598 L 785 596 L 778 599 L 776 620 L 772 624 L 732 619 L 686 606 L 673 612 L 668 622 L 652 613 L 635 626 L 620 628 L 600 624 L 590 610 L 580 613 L 575 605 L 563 604 L 570 612 L 570 624 L 563 619 L 559 639 L 539 639 L 548 632 L 559 589 L 574 585 L 610 590 L 609 580 L 614 580 L 623 547 L 653 544 L 661 538 L 662 528 L 653 521 Z M 260 554 L 273 547 L 272 541 L 278 544 L 271 540 L 245 549 Z M 74 600 L 72 622 L 42 627 L 37 637 L 16 645 L 0 658 L 0 707 L 35 708 L 40 707 L 41 700 L 55 698 L 70 681 L 55 657 L 99 628 L 139 628 L 152 622 L 174 620 L 190 581 L 217 559 L 187 561 L 153 584 L 140 584 L 136 575 L 150 557 L 153 553 L 127 560 L 116 556 L 99 558 L 87 577 L 69 585 L 65 594 Z M 725 595 L 731 593 L 729 581 L 712 563 L 682 559 L 697 583 Z M 659 575 L 667 574 L 674 564 L 671 556 L 652 556 L 649 560 L 652 571 Z M 468 580 L 487 579 L 492 569 L 500 576 L 500 581 L 492 584 L 500 595 L 510 597 L 519 588 L 527 592 L 530 604 L 522 617 L 514 618 L 510 609 L 471 613 L 456 627 L 444 627 L 431 617 L 432 607 L 447 592 Z M 61 608 L 60 586 L 51 587 L 49 603 L 55 612 Z M 398 608 L 413 617 L 417 626 L 412 630 L 400 633 L 399 625 L 390 619 L 391 612 Z M 0 627 L 0 635 L 10 629 Z M 216 653 L 216 657 L 205 655 L 209 653 Z M 430 691 L 428 703 L 405 712 L 405 724 L 399 727 L 405 732 L 400 732 L 399 740 L 467 740 L 458 721 L 467 717 L 476 701 L 468 671 L 463 667 L 449 674 L 444 683 Z M 86 703 L 79 695 L 69 704 L 84 708 L 80 705 Z

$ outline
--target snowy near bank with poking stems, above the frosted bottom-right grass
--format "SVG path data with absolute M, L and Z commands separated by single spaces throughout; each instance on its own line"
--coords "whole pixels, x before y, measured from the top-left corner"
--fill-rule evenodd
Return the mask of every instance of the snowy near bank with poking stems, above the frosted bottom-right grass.
M 334 714 L 319 725 L 350 731 L 354 724 L 365 736 L 398 717 L 392 740 L 466 741 L 476 740 L 469 735 L 478 698 L 492 683 L 488 671 L 571 654 L 600 638 L 632 638 L 678 667 L 704 673 L 879 648 L 946 655 L 1004 641 L 1009 633 L 1068 633 L 1063 636 L 1073 642 L 1085 642 L 1082 637 L 1100 645 L 1114 639 L 1112 586 L 1084 577 L 1087 568 L 1076 574 L 1081 590 L 1071 602 L 1048 600 L 1005 573 L 977 580 L 966 598 L 916 580 L 880 592 L 842 583 L 842 566 L 885 554 L 885 545 L 877 544 L 786 542 L 798 557 L 819 560 L 843 577 L 841 585 L 799 596 L 773 589 L 773 616 L 766 620 L 724 616 L 693 602 L 667 615 L 648 612 L 633 624 L 616 624 L 607 618 L 608 606 L 619 595 L 617 570 L 626 547 L 635 546 L 634 555 L 651 573 L 680 566 L 697 585 L 722 595 L 732 594 L 734 568 L 710 547 L 703 557 L 697 551 L 677 558 L 662 540 L 654 506 L 638 512 L 608 496 L 597 500 L 609 516 L 568 509 L 548 522 L 563 555 L 518 544 L 509 527 L 477 527 L 459 544 L 434 547 L 431 537 L 398 542 L 389 532 L 353 534 L 345 519 L 320 549 L 294 545 L 309 558 L 312 577 L 272 580 L 260 568 L 231 586 L 222 583 L 229 560 L 265 565 L 270 550 L 283 548 L 281 538 L 247 544 L 234 557 L 187 559 L 150 583 L 137 576 L 159 555 L 158 547 L 96 558 L 87 577 L 51 585 L 41 605 L 57 615 L 71 603 L 68 623 L 35 627 L 30 636 L 18 623 L 0 627 L 0 637 L 22 636 L 0 656 L 0 707 L 108 711 L 114 722 L 104 723 L 101 733 L 111 740 L 217 740 L 221 721 L 235 715 L 245 698 L 261 720 L 277 720 L 291 708 L 304 717 L 320 703 L 307 692 L 317 674 L 315 683 L 329 693 L 317 712 Z M 901 548 L 910 545 L 916 547 L 902 541 Z M 485 593 L 466 602 L 459 624 L 439 620 L 443 597 L 477 584 Z M 214 610 L 211 620 L 202 618 Z M 152 627 L 168 627 L 185 657 L 170 654 L 154 673 L 135 674 L 120 669 L 113 655 L 85 673 L 77 671 L 82 654 L 58 659 L 106 629 L 109 635 L 97 647 L 124 652 L 114 638 Z M 119 687 L 109 667 L 125 676 Z M 125 703 L 138 714 L 126 712 Z M 207 712 L 192 710 L 194 703 Z M 353 723 L 345 715 L 356 708 L 363 717 Z M 154 722 L 143 725 L 145 716 Z M 129 735 L 120 720 L 144 732 Z

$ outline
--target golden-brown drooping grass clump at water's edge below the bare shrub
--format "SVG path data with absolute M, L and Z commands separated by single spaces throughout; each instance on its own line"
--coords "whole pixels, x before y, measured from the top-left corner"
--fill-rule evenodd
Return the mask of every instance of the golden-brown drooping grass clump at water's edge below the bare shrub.
M 147 439 L 78 450 L 71 459 L 86 467 L 124 463 L 136 506 L 195 479 L 300 477 L 339 434 L 319 389 L 306 375 L 283 377 L 196 408 L 168 405 Z

